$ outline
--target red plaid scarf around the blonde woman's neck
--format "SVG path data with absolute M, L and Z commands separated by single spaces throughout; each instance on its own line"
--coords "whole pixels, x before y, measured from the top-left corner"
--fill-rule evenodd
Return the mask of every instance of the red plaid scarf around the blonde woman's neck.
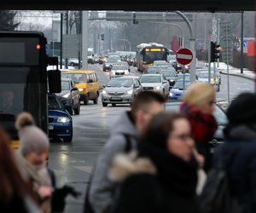
M 183 103 L 180 112 L 189 119 L 191 135 L 195 142 L 209 146 L 208 142 L 218 129 L 218 124 L 212 114 L 201 112 L 200 109 Z

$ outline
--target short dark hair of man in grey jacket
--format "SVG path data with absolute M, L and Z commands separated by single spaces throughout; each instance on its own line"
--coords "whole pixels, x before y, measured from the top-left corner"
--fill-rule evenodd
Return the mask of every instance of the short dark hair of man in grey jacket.
M 163 104 L 165 103 L 166 100 L 163 95 L 160 95 L 160 93 L 156 93 L 153 91 L 140 92 L 135 97 L 135 100 L 132 103 L 131 116 L 135 118 L 135 114 L 138 110 L 148 107 L 148 104 L 150 104 L 150 102 L 153 102 L 153 101 Z

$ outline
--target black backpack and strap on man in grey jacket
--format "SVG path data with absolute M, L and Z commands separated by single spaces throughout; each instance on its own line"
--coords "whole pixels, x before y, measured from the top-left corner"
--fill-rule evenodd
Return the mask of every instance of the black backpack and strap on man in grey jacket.
M 125 137 L 125 149 L 124 152 L 125 153 L 129 153 L 131 151 L 131 139 L 130 139 L 130 135 L 127 134 L 123 134 Z M 93 178 L 93 174 L 94 172 L 91 173 L 90 175 L 90 180 L 88 181 L 88 186 L 86 187 L 86 193 L 85 193 L 85 200 L 84 200 L 84 213 L 95 213 L 95 211 L 93 210 L 91 204 L 90 204 L 90 200 L 89 200 L 89 193 L 90 193 L 90 184 Z

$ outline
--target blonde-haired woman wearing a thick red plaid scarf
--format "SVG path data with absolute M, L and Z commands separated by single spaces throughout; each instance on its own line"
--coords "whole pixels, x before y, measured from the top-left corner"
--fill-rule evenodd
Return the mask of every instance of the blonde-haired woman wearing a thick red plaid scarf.
M 191 125 L 192 137 L 198 153 L 204 156 L 204 170 L 209 170 L 211 165 L 211 152 L 209 141 L 218 128 L 212 113 L 215 109 L 215 89 L 208 83 L 192 83 L 183 96 L 180 107 Z

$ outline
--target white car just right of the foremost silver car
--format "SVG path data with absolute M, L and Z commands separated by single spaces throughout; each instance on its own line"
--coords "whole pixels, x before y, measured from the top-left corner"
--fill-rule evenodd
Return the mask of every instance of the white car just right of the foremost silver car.
M 140 78 L 143 84 L 143 90 L 151 90 L 160 92 L 160 94 L 168 97 L 169 83 L 164 74 L 143 74 Z

